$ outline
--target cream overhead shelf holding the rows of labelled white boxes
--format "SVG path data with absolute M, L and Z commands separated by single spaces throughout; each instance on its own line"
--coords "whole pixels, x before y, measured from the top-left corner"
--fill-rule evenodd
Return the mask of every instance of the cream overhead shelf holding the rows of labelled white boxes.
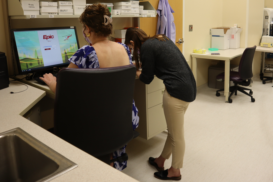
M 150 2 L 139 2 L 139 5 L 144 6 L 145 10 L 155 10 Z M 80 15 L 24 15 L 24 11 L 19 0 L 8 0 L 8 15 L 11 19 L 31 19 L 31 18 L 79 18 Z M 156 17 L 154 15 L 112 15 L 112 18 L 126 18 L 126 17 Z

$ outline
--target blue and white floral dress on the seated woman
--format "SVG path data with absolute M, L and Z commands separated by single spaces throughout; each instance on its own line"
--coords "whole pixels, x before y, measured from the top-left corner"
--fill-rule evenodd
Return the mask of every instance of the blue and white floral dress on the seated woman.
M 127 45 L 123 43 L 119 43 L 123 45 L 123 47 L 126 49 L 130 64 L 132 63 L 131 53 Z M 85 45 L 82 48 L 80 48 L 73 56 L 71 56 L 70 59 L 68 59 L 69 63 L 74 63 L 79 68 L 99 68 L 99 61 L 96 54 L 95 49 L 93 46 Z M 135 130 L 138 126 L 139 117 L 137 115 L 138 110 L 135 106 L 135 102 L 133 101 L 133 111 L 132 111 L 132 124 L 133 124 L 133 130 Z M 117 157 L 120 157 L 123 153 L 125 153 L 125 147 L 122 147 L 121 149 L 113 152 L 113 159 L 116 159 Z M 127 161 L 123 161 L 123 163 L 120 162 L 114 162 L 114 167 L 117 170 L 123 170 L 127 166 Z

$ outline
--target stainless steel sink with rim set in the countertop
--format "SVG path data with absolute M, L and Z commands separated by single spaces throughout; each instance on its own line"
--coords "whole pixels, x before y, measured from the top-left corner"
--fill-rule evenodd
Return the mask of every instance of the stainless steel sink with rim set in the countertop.
M 21 128 L 0 133 L 1 182 L 46 182 L 77 166 Z

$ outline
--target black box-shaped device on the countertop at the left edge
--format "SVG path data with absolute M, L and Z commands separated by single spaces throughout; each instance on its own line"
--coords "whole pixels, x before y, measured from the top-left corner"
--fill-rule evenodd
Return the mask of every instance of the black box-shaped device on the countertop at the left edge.
M 0 90 L 9 85 L 8 63 L 4 52 L 0 52 Z

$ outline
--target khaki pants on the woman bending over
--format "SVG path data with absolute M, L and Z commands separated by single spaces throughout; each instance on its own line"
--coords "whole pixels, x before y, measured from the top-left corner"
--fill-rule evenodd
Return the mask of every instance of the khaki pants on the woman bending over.
M 165 87 L 163 109 L 168 128 L 168 136 L 161 155 L 163 158 L 169 159 L 172 154 L 172 167 L 176 169 L 183 167 L 185 154 L 184 114 L 189 104 L 189 102 L 170 96 Z

